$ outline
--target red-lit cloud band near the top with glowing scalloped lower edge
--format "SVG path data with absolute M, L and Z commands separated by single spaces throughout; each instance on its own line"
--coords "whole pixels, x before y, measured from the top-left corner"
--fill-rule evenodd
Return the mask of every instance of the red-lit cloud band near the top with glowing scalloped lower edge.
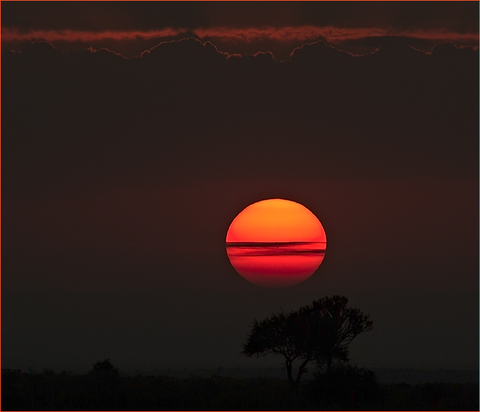
M 359 46 L 378 47 L 379 39 L 385 36 L 403 37 L 411 45 L 423 45 L 430 49 L 434 43 L 453 41 L 459 45 L 478 45 L 478 34 L 455 32 L 444 29 L 392 29 L 385 27 L 335 27 L 335 26 L 285 26 L 285 27 L 205 27 L 187 29 L 165 27 L 160 30 L 20 30 L 2 27 L 1 41 L 4 45 L 16 47 L 19 42 L 45 39 L 58 43 L 64 51 L 82 47 L 108 47 L 127 57 L 138 56 L 145 49 L 160 43 L 195 37 L 212 41 L 222 52 L 229 54 L 254 54 L 274 52 L 277 60 L 285 60 L 295 47 L 304 43 L 322 40 L 340 49 L 359 52 Z M 103 44 L 103 46 L 102 46 Z M 70 46 L 69 46 L 70 45 Z M 352 48 L 352 45 L 355 47 Z M 60 46 L 59 46 L 60 47 Z M 371 50 L 372 51 L 372 50 Z

